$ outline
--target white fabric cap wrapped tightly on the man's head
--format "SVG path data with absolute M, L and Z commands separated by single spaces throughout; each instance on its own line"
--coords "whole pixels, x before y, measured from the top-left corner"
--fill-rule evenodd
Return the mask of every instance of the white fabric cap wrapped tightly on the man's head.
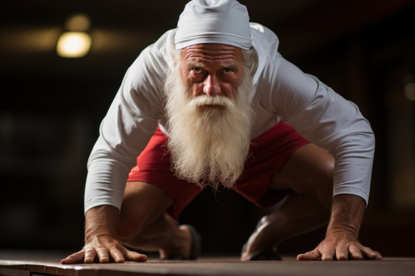
M 236 0 L 191 0 L 180 15 L 176 49 L 221 43 L 248 50 L 252 44 L 247 7 Z

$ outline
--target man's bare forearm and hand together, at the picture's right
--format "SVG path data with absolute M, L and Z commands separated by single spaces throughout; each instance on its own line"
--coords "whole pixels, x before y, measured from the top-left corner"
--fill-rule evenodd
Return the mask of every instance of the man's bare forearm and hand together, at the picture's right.
M 326 238 L 313 251 L 298 255 L 297 260 L 382 259 L 378 252 L 361 245 L 357 240 L 364 209 L 365 202 L 361 197 L 333 197 Z

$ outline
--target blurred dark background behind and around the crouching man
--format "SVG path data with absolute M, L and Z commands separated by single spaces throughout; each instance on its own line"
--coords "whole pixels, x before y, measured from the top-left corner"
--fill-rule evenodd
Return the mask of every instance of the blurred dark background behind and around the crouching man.
M 124 73 L 175 28 L 187 0 L 7 1 L 0 11 L 0 249 L 79 250 L 86 160 Z M 376 136 L 360 239 L 384 256 L 414 256 L 415 3 L 411 0 L 241 0 L 279 51 L 358 104 Z M 90 52 L 56 54 L 65 20 L 91 20 Z M 206 253 L 238 253 L 259 210 L 205 190 L 180 217 Z M 281 244 L 313 249 L 324 229 Z

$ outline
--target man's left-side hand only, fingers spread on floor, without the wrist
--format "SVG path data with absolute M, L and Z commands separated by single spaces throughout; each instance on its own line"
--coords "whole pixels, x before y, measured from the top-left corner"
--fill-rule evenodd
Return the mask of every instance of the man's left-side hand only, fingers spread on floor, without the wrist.
M 64 258 L 62 264 L 145 262 L 147 256 L 129 251 L 111 235 L 96 235 L 85 242 L 83 249 Z

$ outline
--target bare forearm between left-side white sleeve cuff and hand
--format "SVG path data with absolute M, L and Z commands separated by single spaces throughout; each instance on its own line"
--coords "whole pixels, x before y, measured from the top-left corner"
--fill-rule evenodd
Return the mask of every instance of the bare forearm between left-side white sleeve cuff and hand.
M 115 236 L 120 211 L 112 205 L 101 205 L 89 209 L 85 214 L 85 241 L 96 235 Z

